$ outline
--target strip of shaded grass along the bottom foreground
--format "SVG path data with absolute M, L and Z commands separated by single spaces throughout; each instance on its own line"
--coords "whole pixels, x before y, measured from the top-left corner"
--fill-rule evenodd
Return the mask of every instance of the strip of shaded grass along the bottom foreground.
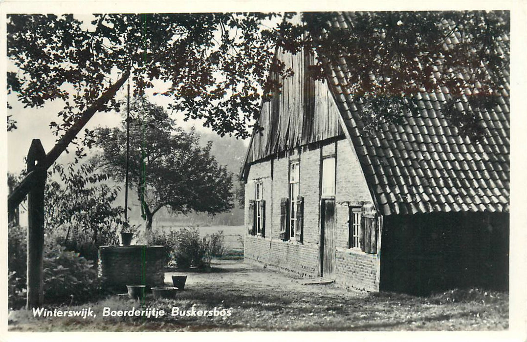
M 281 296 L 240 294 L 240 291 L 184 291 L 180 299 L 148 298 L 145 307 L 159 308 L 166 317 L 102 317 L 104 307 L 130 310 L 141 302 L 109 298 L 91 305 L 94 319 L 33 318 L 31 312 L 12 315 L 23 331 L 202 331 L 202 330 L 502 330 L 507 328 L 508 304 L 480 302 L 431 304 L 426 298 L 394 294 L 369 295 L 349 300 L 337 296 Z M 75 307 L 73 309 L 84 308 Z M 231 316 L 172 317 L 180 311 L 230 310 Z

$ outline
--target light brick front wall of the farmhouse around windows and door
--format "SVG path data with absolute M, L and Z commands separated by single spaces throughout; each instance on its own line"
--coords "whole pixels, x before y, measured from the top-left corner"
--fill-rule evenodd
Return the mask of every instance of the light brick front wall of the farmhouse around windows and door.
M 337 168 L 335 280 L 350 287 L 376 291 L 379 288 L 377 255 L 347 248 L 348 206 L 362 205 L 371 202 L 371 199 L 358 160 L 346 140 L 305 148 L 294 155 L 251 165 L 246 185 L 246 204 L 254 197 L 255 179 L 263 179 L 264 199 L 268 203 L 266 238 L 246 235 L 245 258 L 275 265 L 299 275 L 320 274 L 320 164 L 321 157 L 327 155 L 336 155 Z M 299 192 L 304 197 L 304 243 L 279 239 L 280 199 L 288 197 L 289 162 L 292 159 L 300 161 Z M 246 222 L 247 218 L 246 210 Z

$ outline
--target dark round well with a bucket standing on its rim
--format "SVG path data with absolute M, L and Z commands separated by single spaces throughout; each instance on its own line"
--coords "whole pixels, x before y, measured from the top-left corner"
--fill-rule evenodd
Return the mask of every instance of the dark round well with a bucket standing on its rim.
M 126 292 L 126 285 L 164 284 L 165 252 L 163 246 L 101 246 L 99 277 L 104 285 Z

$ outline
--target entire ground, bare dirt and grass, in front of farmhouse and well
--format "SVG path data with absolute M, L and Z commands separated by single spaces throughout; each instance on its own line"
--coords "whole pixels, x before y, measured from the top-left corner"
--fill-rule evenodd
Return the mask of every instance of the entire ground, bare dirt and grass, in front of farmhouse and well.
M 177 299 L 144 302 L 112 296 L 74 308 L 91 307 L 95 318 L 34 318 L 18 310 L 10 331 L 240 331 L 240 330 L 503 330 L 508 328 L 509 296 L 503 292 L 447 292 L 413 297 L 368 294 L 335 284 L 305 285 L 301 279 L 242 260 L 213 260 L 210 272 L 187 274 Z M 465 292 L 463 292 L 465 293 Z M 465 293 L 466 294 L 466 293 Z M 102 317 L 112 310 L 163 309 L 164 317 Z M 173 308 L 189 316 L 171 316 Z M 214 310 L 216 309 L 216 310 Z M 222 311 L 224 310 L 225 311 Z M 206 315 L 198 316 L 198 311 Z M 211 311 L 211 316 L 208 316 Z M 215 312 L 219 314 L 216 315 Z M 227 312 L 230 311 L 230 316 Z M 194 312 L 194 314 L 192 314 Z M 225 315 L 220 315 L 225 314 Z

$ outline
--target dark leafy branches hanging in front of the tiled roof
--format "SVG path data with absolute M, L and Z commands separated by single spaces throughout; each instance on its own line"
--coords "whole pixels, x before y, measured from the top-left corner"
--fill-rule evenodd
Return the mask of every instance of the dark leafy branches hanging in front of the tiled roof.
M 477 141 L 485 134 L 480 112 L 508 88 L 508 12 L 307 13 L 304 21 L 317 66 L 340 68 L 340 85 L 364 105 L 370 130 L 404 124 L 403 110 L 418 114 L 415 97 L 435 92 L 445 95 L 451 124 Z

